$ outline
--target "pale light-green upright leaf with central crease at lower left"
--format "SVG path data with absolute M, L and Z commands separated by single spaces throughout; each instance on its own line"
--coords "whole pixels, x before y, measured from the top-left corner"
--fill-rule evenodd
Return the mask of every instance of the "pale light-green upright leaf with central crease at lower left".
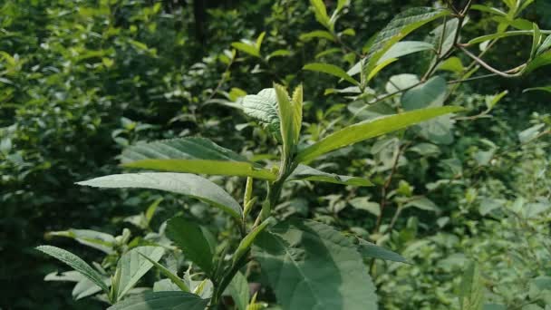
M 120 301 L 153 266 L 145 257 L 158 262 L 164 253 L 163 247 L 134 247 L 122 255 L 117 264 L 117 269 L 121 270 L 121 279 L 116 290 L 117 301 Z

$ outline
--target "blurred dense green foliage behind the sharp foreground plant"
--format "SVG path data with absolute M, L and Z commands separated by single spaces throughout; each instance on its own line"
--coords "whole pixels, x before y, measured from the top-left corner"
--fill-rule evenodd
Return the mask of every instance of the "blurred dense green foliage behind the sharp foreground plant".
M 337 26 L 342 41 L 332 42 L 304 35 L 321 28 L 307 1 L 210 1 L 195 7 L 189 0 L 4 2 L 0 308 L 102 308 L 92 299 L 73 301 L 65 283 L 43 282 L 66 268 L 34 251 L 39 244 L 70 248 L 88 261 L 102 257 L 47 232 L 86 228 L 118 236 L 128 228 L 140 238 L 183 210 L 223 233 L 226 222 L 189 199 L 163 194 L 152 221 L 143 225 L 129 217 L 159 199 L 159 192 L 98 191 L 73 183 L 121 171 L 117 156 L 141 140 L 204 136 L 244 154 L 266 154 L 275 141 L 232 103 L 274 81 L 304 83 L 304 132 L 312 140 L 353 117 L 368 117 L 356 113 L 345 94 L 327 91 L 343 88 L 334 77 L 304 71 L 304 64 L 347 69 L 358 60 L 351 51 L 361 53 L 393 15 L 433 4 L 354 0 Z M 522 17 L 549 29 L 551 5 L 536 0 Z M 493 33 L 495 22 L 475 11 L 465 35 Z M 232 43 L 255 41 L 263 32 L 260 57 L 231 52 Z M 529 37 L 504 39 L 485 59 L 515 67 L 526 59 L 529 44 Z M 394 74 L 420 74 L 423 65 L 422 57 L 404 57 L 372 88 L 388 87 Z M 461 84 L 449 98 L 469 115 L 484 111 L 494 95 L 507 95 L 488 115 L 457 120 L 438 137 L 409 130 L 400 139 L 382 137 L 331 154 L 325 170 L 368 177 L 377 186 L 297 183 L 285 188 L 281 214 L 330 223 L 408 258 L 411 265 L 372 264 L 382 308 L 458 307 L 469 260 L 480 266 L 489 302 L 511 309 L 551 305 L 551 286 L 538 286 L 551 283 L 551 95 L 523 92 L 551 84 L 547 68 L 523 78 Z M 457 78 L 442 74 L 448 81 Z M 219 181 L 241 195 L 242 179 Z

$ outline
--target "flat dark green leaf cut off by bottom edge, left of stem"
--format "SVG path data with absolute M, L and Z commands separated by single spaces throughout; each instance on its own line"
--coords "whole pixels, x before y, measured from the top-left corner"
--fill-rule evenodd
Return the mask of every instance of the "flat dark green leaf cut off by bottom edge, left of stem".
M 155 292 L 132 295 L 107 310 L 205 310 L 208 299 L 187 292 Z

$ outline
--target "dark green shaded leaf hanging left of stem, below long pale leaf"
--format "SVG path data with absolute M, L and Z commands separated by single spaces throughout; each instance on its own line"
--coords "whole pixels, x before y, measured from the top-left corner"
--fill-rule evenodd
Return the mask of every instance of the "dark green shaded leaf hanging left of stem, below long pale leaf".
M 182 250 L 185 257 L 211 275 L 214 271 L 214 242 L 203 229 L 186 218 L 170 218 L 167 236 Z

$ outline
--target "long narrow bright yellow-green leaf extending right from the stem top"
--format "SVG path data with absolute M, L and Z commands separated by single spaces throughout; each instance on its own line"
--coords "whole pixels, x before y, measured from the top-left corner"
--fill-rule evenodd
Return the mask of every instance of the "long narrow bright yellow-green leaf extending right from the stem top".
M 428 108 L 415 111 L 403 112 L 389 116 L 382 116 L 371 121 L 362 121 L 345 127 L 340 131 L 325 137 L 306 149 L 300 151 L 296 157 L 299 162 L 314 160 L 332 150 L 367 140 L 382 134 L 397 131 L 421 121 L 427 121 L 437 116 L 462 111 L 459 107 Z

